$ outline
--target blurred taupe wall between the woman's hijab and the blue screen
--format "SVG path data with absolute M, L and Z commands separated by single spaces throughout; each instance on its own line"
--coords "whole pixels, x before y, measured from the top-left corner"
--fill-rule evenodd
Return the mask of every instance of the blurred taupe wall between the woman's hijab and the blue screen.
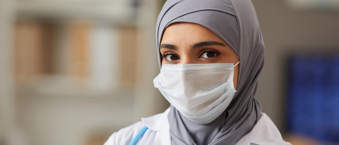
M 256 97 L 284 131 L 286 59 L 295 51 L 339 50 L 339 11 L 295 11 L 285 1 L 252 0 L 265 42 L 265 65 Z

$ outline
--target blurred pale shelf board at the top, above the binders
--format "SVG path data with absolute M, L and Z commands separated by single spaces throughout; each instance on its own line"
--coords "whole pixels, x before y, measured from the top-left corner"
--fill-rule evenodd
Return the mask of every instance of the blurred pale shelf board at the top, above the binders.
M 127 1 L 128 2 L 128 1 Z M 109 1 L 16 1 L 19 18 L 85 19 L 134 22 L 137 7 Z

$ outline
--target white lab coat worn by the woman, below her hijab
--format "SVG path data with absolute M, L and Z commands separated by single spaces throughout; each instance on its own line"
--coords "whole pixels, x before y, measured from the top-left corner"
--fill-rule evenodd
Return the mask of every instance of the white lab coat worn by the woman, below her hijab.
M 167 114 L 170 108 L 157 115 L 141 118 L 141 121 L 114 132 L 104 145 L 128 145 L 143 126 L 148 129 L 137 142 L 138 145 L 171 145 Z M 272 120 L 262 113 L 253 129 L 235 145 L 291 145 L 285 142 Z

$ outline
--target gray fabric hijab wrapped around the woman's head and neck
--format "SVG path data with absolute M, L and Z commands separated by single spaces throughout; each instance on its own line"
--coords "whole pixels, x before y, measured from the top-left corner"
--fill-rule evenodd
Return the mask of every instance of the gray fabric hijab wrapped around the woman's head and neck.
M 197 23 L 222 38 L 239 57 L 237 92 L 231 104 L 214 121 L 194 123 L 171 105 L 168 114 L 172 144 L 234 145 L 261 117 L 254 98 L 264 63 L 264 42 L 250 0 L 167 0 L 156 27 L 159 45 L 164 29 L 174 22 Z

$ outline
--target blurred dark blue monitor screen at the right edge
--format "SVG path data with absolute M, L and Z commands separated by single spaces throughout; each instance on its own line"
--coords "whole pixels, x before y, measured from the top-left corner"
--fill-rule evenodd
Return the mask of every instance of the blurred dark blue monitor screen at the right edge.
M 339 143 L 339 54 L 293 55 L 287 78 L 287 130 Z

